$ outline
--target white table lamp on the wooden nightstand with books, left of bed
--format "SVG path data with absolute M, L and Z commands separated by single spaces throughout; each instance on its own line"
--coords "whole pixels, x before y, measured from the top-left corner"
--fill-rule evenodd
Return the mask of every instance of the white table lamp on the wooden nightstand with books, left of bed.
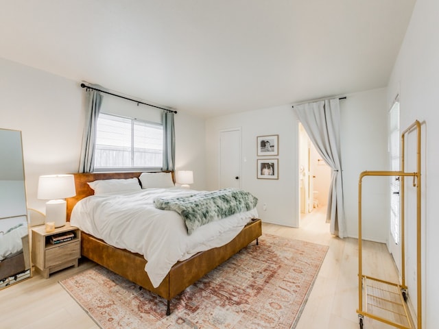
M 76 195 L 73 175 L 42 175 L 38 180 L 38 199 L 46 202 L 46 223 L 54 222 L 56 228 L 66 224 L 66 197 Z

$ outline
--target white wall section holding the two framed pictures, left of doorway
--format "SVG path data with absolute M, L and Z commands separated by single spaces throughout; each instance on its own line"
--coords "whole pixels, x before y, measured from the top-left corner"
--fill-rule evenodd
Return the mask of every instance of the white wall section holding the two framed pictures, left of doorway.
M 259 217 L 268 223 L 295 226 L 298 221 L 298 121 L 292 106 L 241 112 L 206 120 L 207 188 L 219 187 L 219 132 L 241 127 L 241 188 L 258 199 Z M 257 136 L 279 135 L 278 180 L 257 179 Z M 265 157 L 270 158 L 270 157 Z M 263 211 L 262 205 L 267 204 Z

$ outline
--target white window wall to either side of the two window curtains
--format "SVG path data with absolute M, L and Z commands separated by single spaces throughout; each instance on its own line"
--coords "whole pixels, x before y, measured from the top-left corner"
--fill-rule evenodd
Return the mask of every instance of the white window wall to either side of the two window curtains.
M 44 211 L 45 201 L 36 199 L 38 176 L 78 172 L 83 89 L 80 82 L 9 60 L 0 59 L 0 72 L 0 127 L 21 130 L 27 204 Z M 176 167 L 193 169 L 193 187 L 204 188 L 204 120 L 179 112 L 175 121 Z

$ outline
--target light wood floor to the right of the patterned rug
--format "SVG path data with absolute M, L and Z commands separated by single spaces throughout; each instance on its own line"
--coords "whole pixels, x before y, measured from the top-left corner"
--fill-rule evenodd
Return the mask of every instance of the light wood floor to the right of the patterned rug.
M 263 232 L 288 238 L 329 245 L 327 256 L 314 283 L 309 300 L 296 329 L 359 328 L 358 240 L 339 239 L 329 233 L 326 209 L 314 209 L 301 227 L 285 228 L 265 223 Z M 363 274 L 398 282 L 392 256 L 382 243 L 363 241 Z M 364 329 L 394 328 L 380 321 L 364 318 Z

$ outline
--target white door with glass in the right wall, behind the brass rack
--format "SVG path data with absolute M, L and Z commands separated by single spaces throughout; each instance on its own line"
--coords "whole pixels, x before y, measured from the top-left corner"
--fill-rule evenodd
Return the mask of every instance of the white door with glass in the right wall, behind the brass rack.
M 389 112 L 389 154 L 390 170 L 400 170 L 399 101 L 395 101 Z M 401 273 L 401 217 L 400 217 L 400 179 L 390 178 L 390 236 L 389 252 Z

